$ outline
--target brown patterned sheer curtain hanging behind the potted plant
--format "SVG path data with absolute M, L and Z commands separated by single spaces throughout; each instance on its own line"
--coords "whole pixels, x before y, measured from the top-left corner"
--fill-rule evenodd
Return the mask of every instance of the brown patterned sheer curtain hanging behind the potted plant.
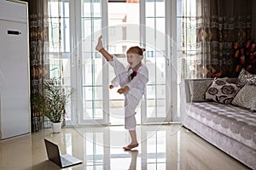
M 61 34 L 60 22 L 54 23 L 49 20 L 50 0 L 31 0 L 29 1 L 29 20 L 30 20 L 30 66 L 31 66 L 31 101 L 32 101 L 32 131 L 49 126 L 45 124 L 43 114 L 35 109 L 33 104 L 33 94 L 42 93 L 44 81 L 51 78 L 53 55 L 55 56 L 55 66 L 59 69 L 56 77 L 61 78 L 62 58 L 60 53 L 61 36 L 53 37 L 52 28 Z M 57 0 L 55 0 L 58 3 Z M 53 41 L 54 40 L 54 41 Z M 50 49 L 55 48 L 55 53 L 50 53 Z M 56 62 L 57 61 L 57 62 Z

